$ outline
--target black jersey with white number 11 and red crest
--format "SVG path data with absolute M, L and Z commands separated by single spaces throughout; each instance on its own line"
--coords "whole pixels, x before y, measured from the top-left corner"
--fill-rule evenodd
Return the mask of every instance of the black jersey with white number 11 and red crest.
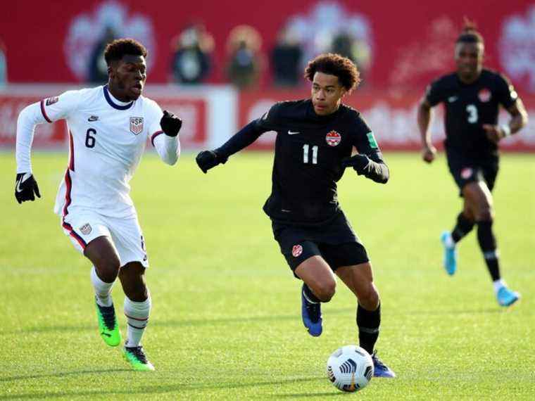
M 343 158 L 358 153 L 384 163 L 372 130 L 357 110 L 341 105 L 317 115 L 310 99 L 276 103 L 255 122 L 258 131 L 276 131 L 272 193 L 264 211 L 273 220 L 321 224 L 336 215 L 336 182 Z

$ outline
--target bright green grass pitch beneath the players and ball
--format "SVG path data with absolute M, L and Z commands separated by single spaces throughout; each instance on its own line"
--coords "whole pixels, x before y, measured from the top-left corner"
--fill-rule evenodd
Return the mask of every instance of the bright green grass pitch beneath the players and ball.
M 0 153 L 0 400 L 534 400 L 535 156 L 504 155 L 494 191 L 503 276 L 523 295 L 512 310 L 493 297 L 474 233 L 457 274 L 441 268 L 439 234 L 460 210 L 444 158 L 386 160 L 388 184 L 348 170 L 339 197 L 372 259 L 377 349 L 398 377 L 346 395 L 325 363 L 358 343 L 355 298 L 339 281 L 322 336 L 308 336 L 300 283 L 261 210 L 271 153 L 236 155 L 206 175 L 193 154 L 175 167 L 155 155 L 141 162 L 132 197 L 151 262 L 149 374 L 131 371 L 97 333 L 89 262 L 52 212 L 67 155 L 33 155 L 43 197 L 18 205 L 14 155 Z M 120 286 L 113 296 L 124 336 Z

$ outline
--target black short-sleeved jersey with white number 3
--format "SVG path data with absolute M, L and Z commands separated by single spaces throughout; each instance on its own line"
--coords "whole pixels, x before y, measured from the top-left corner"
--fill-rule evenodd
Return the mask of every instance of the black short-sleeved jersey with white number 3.
M 484 159 L 497 155 L 498 146 L 487 138 L 483 125 L 496 125 L 498 106 L 512 106 L 517 93 L 506 77 L 484 69 L 472 84 L 461 82 L 456 72 L 444 75 L 429 85 L 426 98 L 431 106 L 444 103 L 446 152 Z

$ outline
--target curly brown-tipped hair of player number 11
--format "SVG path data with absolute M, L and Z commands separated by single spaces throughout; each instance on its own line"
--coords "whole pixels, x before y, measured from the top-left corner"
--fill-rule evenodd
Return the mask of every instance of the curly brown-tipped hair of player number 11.
M 339 54 L 324 53 L 309 61 L 305 69 L 305 78 L 313 82 L 316 72 L 335 75 L 348 93 L 351 93 L 360 83 L 360 72 L 355 63 Z

